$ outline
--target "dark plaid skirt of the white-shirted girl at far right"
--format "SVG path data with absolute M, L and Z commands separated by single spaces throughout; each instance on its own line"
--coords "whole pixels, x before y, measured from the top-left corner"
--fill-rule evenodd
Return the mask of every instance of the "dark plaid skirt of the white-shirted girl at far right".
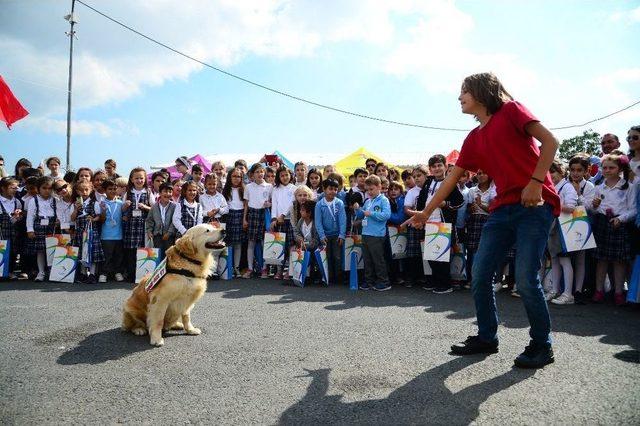
M 596 239 L 596 259 L 600 260 L 631 260 L 631 240 L 629 227 L 625 224 L 614 228 L 607 216 L 598 213 L 593 216 L 593 236 Z

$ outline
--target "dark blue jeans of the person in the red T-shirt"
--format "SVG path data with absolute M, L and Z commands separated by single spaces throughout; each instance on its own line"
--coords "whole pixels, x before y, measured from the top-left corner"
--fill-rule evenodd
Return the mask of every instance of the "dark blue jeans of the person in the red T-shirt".
M 498 314 L 491 282 L 515 243 L 516 285 L 531 325 L 529 335 L 536 345 L 551 345 L 551 319 L 538 271 L 553 219 L 548 204 L 533 208 L 510 204 L 499 207 L 489 216 L 473 259 L 471 281 L 478 336 L 482 340 L 498 339 Z

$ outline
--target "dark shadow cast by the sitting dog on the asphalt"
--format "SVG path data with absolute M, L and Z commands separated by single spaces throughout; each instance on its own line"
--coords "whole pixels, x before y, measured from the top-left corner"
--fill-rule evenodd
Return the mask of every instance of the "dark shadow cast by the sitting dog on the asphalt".
M 102 364 L 150 349 L 153 346 L 149 345 L 149 336 L 135 336 L 112 328 L 88 335 L 75 348 L 60 355 L 57 362 L 61 365 Z

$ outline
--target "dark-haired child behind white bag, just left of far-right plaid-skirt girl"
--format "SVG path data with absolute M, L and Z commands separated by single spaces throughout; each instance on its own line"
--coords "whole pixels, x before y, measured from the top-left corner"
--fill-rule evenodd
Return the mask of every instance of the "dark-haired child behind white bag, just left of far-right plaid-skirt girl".
M 589 182 L 589 156 L 578 154 L 569 160 L 569 179 L 573 189 L 578 194 L 578 206 L 585 206 L 590 210 L 595 195 L 595 186 Z M 592 252 L 592 250 L 590 250 Z M 573 253 L 573 287 L 574 300 L 576 303 L 583 303 L 585 297 L 582 293 L 584 279 L 586 275 L 587 250 L 580 250 Z M 595 265 L 594 265 L 595 266 Z M 593 269 L 595 275 L 595 268 Z

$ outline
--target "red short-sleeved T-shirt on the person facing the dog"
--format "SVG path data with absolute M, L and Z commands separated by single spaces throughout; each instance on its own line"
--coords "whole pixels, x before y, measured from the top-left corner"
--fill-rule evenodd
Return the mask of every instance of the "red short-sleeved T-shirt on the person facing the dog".
M 456 165 L 472 172 L 482 169 L 493 178 L 497 196 L 491 211 L 520 203 L 522 190 L 531 181 L 540 157 L 538 145 L 524 130 L 532 121 L 539 120 L 521 103 L 509 101 L 464 140 Z M 548 172 L 542 199 L 553 207 L 554 215 L 560 214 L 560 198 Z

